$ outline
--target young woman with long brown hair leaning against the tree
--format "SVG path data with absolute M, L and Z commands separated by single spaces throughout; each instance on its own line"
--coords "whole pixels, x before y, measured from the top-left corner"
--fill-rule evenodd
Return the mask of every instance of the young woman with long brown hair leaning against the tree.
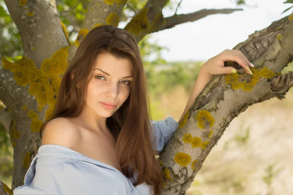
M 212 75 L 231 73 L 224 61 L 245 67 L 236 50 L 225 50 L 201 68 L 181 119 L 153 121 L 139 48 L 126 31 L 103 25 L 84 38 L 60 86 L 42 145 L 14 195 L 159 195 L 160 165 L 167 145 Z

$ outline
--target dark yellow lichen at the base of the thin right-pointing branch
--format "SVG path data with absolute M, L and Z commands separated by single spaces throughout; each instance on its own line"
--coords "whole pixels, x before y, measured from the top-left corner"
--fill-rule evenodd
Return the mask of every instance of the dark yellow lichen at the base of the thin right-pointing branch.
M 149 29 L 147 12 L 148 8 L 142 9 L 135 17 L 133 17 L 127 23 L 125 30 L 133 35 L 139 35 L 141 32 L 144 32 L 146 34 Z

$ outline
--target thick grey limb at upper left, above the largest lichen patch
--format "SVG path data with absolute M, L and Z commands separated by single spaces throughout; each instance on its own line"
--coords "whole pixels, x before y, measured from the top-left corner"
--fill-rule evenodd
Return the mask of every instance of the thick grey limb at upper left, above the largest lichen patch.
M 40 68 L 44 59 L 68 45 L 55 0 L 27 0 L 26 4 L 5 0 L 5 3 L 21 35 L 23 56 L 33 59 L 36 67 Z

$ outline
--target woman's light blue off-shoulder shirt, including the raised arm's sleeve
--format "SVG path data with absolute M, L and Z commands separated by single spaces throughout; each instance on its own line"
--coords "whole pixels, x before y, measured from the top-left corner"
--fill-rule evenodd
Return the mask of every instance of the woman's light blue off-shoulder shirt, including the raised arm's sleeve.
M 152 120 L 157 147 L 161 153 L 179 124 L 173 117 Z M 24 177 L 24 185 L 14 195 L 152 195 L 146 183 L 134 186 L 132 177 L 101 161 L 55 144 L 40 146 Z

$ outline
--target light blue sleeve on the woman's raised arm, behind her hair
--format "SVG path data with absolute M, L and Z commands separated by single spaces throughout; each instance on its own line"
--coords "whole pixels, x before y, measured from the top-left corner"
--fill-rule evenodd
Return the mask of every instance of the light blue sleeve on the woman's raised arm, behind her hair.
M 178 122 L 173 117 L 167 117 L 165 120 L 151 120 L 153 131 L 153 148 L 160 154 L 167 146 L 170 138 L 179 127 Z

